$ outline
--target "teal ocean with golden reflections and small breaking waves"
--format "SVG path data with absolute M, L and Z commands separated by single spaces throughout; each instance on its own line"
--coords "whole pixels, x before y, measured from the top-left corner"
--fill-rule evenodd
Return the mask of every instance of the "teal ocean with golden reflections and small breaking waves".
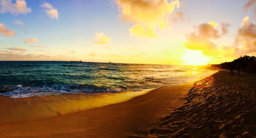
M 212 72 L 188 65 L 0 61 L 0 96 L 134 92 L 191 82 Z

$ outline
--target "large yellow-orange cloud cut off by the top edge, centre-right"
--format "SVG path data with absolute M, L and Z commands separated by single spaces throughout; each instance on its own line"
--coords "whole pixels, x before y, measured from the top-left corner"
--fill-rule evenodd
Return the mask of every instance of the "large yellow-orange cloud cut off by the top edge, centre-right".
M 180 7 L 179 0 L 116 0 L 124 21 L 135 24 L 129 29 L 130 35 L 138 38 L 156 37 L 156 28 L 169 29 L 170 15 L 175 7 Z

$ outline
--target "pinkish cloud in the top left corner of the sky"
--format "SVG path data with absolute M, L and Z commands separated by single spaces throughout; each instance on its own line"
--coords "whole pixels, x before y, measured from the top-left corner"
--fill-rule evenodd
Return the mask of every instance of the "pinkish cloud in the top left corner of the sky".
M 1 5 L 1 13 L 11 12 L 13 15 L 18 15 L 19 13 L 26 14 L 32 12 L 31 8 L 27 7 L 25 0 L 16 0 L 16 4 L 12 3 L 12 0 L 1 0 Z

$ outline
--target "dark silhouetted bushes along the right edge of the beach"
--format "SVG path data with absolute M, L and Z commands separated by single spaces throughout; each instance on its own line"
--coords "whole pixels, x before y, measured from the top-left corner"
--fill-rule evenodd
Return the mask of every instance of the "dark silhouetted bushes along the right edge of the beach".
M 241 71 L 243 72 L 256 73 L 256 57 L 254 56 L 240 56 L 232 62 L 221 63 L 220 67 L 223 69 L 229 69 L 231 63 L 234 69 L 236 69 L 236 66 L 239 65 L 241 66 Z

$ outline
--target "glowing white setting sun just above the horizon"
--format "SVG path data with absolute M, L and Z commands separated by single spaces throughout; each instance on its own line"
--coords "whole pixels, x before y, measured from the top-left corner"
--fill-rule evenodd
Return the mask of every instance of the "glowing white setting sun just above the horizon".
M 182 57 L 183 65 L 207 65 L 209 57 L 204 57 L 199 50 L 188 50 Z

